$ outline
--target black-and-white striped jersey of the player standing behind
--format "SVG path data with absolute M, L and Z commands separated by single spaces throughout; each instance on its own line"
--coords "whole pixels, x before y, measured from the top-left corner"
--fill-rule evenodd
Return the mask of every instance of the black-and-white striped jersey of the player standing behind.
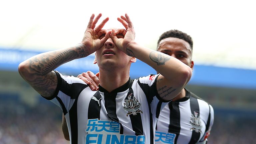
M 171 101 L 160 112 L 156 144 L 195 144 L 206 142 L 213 125 L 210 104 L 185 89 L 186 96 Z

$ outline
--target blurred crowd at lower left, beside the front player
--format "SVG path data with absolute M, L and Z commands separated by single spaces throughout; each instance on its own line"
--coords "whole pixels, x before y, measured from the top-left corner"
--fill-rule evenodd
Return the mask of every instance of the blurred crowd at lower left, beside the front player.
M 61 109 L 43 100 L 34 107 L 0 99 L 0 144 L 69 144 L 61 132 Z

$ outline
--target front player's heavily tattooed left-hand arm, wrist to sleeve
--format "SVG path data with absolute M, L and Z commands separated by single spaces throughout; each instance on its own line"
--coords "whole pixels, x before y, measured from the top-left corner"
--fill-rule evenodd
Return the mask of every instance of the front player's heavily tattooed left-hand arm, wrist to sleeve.
M 90 53 L 82 44 L 68 49 L 50 51 L 33 56 L 19 65 L 20 75 L 41 95 L 48 97 L 57 87 L 57 76 L 52 71 L 60 65 Z

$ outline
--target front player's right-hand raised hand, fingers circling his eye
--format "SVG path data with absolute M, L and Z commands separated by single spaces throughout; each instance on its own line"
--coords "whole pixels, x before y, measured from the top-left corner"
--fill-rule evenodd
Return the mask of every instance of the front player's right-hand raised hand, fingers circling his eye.
M 125 27 L 126 30 L 124 29 L 117 29 L 116 31 L 112 30 L 111 38 L 114 41 L 117 48 L 119 48 L 129 56 L 135 57 L 133 52 L 129 49 L 129 45 L 134 43 L 134 38 L 135 38 L 133 24 L 127 14 L 125 14 L 125 16 L 121 16 L 121 18 L 117 18 L 117 20 L 122 23 L 122 25 Z M 120 35 L 120 34 L 122 34 L 124 38 L 118 38 L 117 35 Z

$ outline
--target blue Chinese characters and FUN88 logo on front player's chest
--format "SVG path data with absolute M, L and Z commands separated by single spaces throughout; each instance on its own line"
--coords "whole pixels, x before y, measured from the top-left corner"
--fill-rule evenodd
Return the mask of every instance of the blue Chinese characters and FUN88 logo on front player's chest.
M 115 121 L 89 119 L 86 144 L 145 144 L 144 135 L 120 134 L 120 124 Z

